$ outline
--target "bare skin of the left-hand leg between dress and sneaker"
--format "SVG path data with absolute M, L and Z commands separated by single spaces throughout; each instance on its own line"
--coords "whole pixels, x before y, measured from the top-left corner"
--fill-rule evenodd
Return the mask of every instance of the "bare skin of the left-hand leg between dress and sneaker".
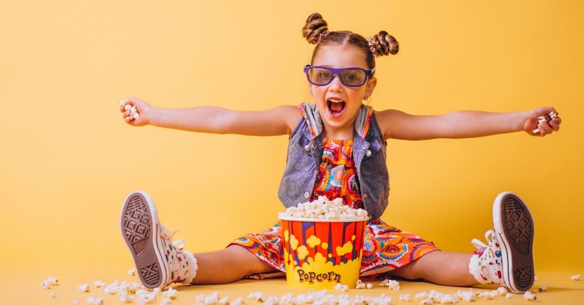
M 192 284 L 224 284 L 253 273 L 276 272 L 272 266 L 240 245 L 211 252 L 195 253 L 197 275 Z

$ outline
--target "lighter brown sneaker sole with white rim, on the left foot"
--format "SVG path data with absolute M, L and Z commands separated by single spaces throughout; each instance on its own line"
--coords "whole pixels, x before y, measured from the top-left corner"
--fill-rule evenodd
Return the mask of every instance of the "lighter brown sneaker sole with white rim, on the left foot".
M 121 235 L 134 258 L 142 285 L 152 289 L 166 283 L 168 266 L 164 264 L 164 246 L 158 232 L 158 213 L 150 195 L 136 191 L 124 201 L 120 215 Z

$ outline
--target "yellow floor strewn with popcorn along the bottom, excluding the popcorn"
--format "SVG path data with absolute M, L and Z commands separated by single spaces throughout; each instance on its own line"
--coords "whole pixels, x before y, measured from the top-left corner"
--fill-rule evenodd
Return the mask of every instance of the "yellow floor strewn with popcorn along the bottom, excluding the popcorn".
M 11 267 L 12 268 L 12 267 Z M 60 270 L 58 273 L 49 273 L 50 268 L 26 270 L 2 268 L 0 277 L 0 304 L 72 304 L 74 300 L 79 300 L 79 304 L 87 304 L 86 299 L 90 296 L 103 297 L 103 304 L 122 304 L 119 297 L 113 294 L 106 294 L 102 290 L 93 286 L 93 280 L 103 280 L 106 283 L 112 283 L 114 280 L 120 282 L 136 282 L 136 276 L 126 275 L 125 270 L 108 270 L 107 267 L 99 270 Z M 536 294 L 538 303 L 545 304 L 584 304 L 584 280 L 571 280 L 571 273 L 538 271 L 537 282 L 534 287 L 545 284 L 548 290 Z M 58 277 L 59 286 L 51 286 L 50 289 L 43 289 L 40 283 L 47 279 L 48 276 Z M 583 276 L 584 278 L 584 276 Z M 367 281 L 369 282 L 369 281 Z M 374 288 L 367 290 L 351 289 L 347 294 L 349 296 L 380 296 L 385 293 L 392 298 L 392 304 L 419 304 L 419 300 L 411 302 L 399 301 L 400 293 L 410 293 L 413 296 L 424 290 L 436 290 L 442 293 L 455 293 L 457 287 L 446 287 L 433 285 L 422 282 L 400 281 L 401 290 L 388 290 L 387 287 L 378 286 L 379 281 L 373 281 Z M 89 284 L 90 292 L 79 292 L 77 287 L 82 284 Z M 248 296 L 251 292 L 263 292 L 266 296 L 282 296 L 286 293 L 294 295 L 306 293 L 307 289 L 297 289 L 288 287 L 285 279 L 267 279 L 267 280 L 240 280 L 235 283 L 226 285 L 205 285 L 205 286 L 173 286 L 178 290 L 178 299 L 173 304 L 194 304 L 199 294 L 211 294 L 215 291 L 220 296 L 230 296 L 231 300 L 237 297 Z M 488 289 L 485 289 L 488 288 Z M 493 287 L 481 286 L 475 287 L 474 290 L 489 291 Z M 468 288 L 463 288 L 468 290 Z M 55 297 L 50 296 L 54 292 Z M 334 290 L 329 293 L 339 294 Z M 159 296 L 157 301 L 152 304 L 158 304 L 162 300 Z M 512 299 L 497 297 L 495 300 L 479 300 L 479 303 L 489 302 L 489 304 L 526 304 L 523 296 L 516 294 Z M 134 302 L 135 303 L 135 302 Z M 256 304 L 255 301 L 245 300 L 247 304 Z M 463 302 L 465 303 L 465 302 Z

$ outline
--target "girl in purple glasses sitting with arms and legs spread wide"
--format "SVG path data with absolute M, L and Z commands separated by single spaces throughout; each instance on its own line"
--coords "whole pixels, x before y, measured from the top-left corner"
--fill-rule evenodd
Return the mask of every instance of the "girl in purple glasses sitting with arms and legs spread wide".
M 493 206 L 494 229 L 488 245 L 473 241 L 473 254 L 437 251 L 431 241 L 384 223 L 388 204 L 385 150 L 388 138 L 423 140 L 468 138 L 526 131 L 545 136 L 559 130 L 561 119 L 551 107 L 527 112 L 460 111 L 440 116 L 413 116 L 398 110 L 374 112 L 363 105 L 377 85 L 375 58 L 398 53 L 398 42 L 381 31 L 370 39 L 348 31 L 328 30 L 318 13 L 310 15 L 303 36 L 316 44 L 304 68 L 314 103 L 280 106 L 258 112 L 218 107 L 154 108 L 130 98 L 140 116 L 123 113 L 132 126 L 154 125 L 201 133 L 280 136 L 290 143 L 278 192 L 284 206 L 326 195 L 362 207 L 371 220 L 366 228 L 361 276 L 423 279 L 440 285 L 491 283 L 519 293 L 533 285 L 533 220 L 519 196 L 502 193 Z M 545 120 L 538 120 L 544 116 Z M 551 117 L 550 117 L 551 116 Z M 537 129 L 537 130 L 536 130 Z M 121 231 L 142 283 L 229 283 L 284 271 L 280 227 L 238 238 L 227 248 L 190 254 L 172 242 L 159 223 L 154 202 L 134 192 L 124 202 Z

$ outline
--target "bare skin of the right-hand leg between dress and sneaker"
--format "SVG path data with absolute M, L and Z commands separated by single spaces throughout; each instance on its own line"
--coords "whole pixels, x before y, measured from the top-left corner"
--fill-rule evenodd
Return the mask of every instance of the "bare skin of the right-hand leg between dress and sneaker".
M 446 286 L 473 286 L 479 283 L 468 272 L 472 254 L 433 251 L 411 264 L 390 271 L 405 279 L 423 279 Z

